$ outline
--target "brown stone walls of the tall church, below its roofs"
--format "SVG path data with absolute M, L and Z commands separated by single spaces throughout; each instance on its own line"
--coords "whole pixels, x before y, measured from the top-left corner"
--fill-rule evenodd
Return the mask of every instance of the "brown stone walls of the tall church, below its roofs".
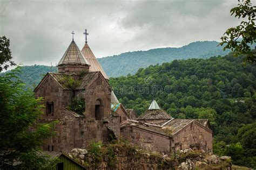
M 54 111 L 53 114 L 46 115 L 46 109 L 43 109 L 44 114 L 41 117 L 41 122 L 51 123 L 56 120 L 59 122 L 54 129 L 57 132 L 56 136 L 46 140 L 43 150 L 68 153 L 75 147 L 85 148 L 91 141 L 102 141 L 104 143 L 108 140 L 107 126 L 114 126 L 114 123 L 118 123 L 119 119 L 117 121 L 117 118 L 114 118 L 116 120 L 111 121 L 111 91 L 105 79 L 100 76 L 96 77 L 96 80 L 87 87 L 88 91 L 63 90 L 51 76 L 46 75 L 44 77 L 35 93 L 37 96 L 44 98 L 45 105 L 46 102 L 53 102 Z M 77 116 L 77 114 L 72 114 L 63 109 L 71 104 L 74 96 L 85 98 L 85 115 Z M 97 100 L 102 102 L 102 115 L 99 120 L 95 118 Z M 117 129 L 116 126 L 115 129 Z M 119 135 L 120 130 L 116 131 Z

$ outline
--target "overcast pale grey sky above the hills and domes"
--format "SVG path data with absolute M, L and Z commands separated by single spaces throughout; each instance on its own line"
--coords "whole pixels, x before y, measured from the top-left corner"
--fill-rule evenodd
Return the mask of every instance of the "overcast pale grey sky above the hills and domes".
M 84 29 L 97 58 L 192 41 L 217 40 L 239 20 L 236 0 L 7 1 L 0 0 L 0 36 L 11 40 L 16 63 L 53 65 Z

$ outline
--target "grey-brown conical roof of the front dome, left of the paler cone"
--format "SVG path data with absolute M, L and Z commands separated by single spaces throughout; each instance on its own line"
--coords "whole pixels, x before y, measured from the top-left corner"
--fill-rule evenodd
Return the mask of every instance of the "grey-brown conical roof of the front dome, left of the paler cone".
M 58 66 L 77 64 L 90 65 L 90 63 L 85 59 L 84 55 L 76 45 L 76 42 L 72 40 L 69 47 L 66 49 L 66 52 L 62 56 L 62 59 L 60 59 Z

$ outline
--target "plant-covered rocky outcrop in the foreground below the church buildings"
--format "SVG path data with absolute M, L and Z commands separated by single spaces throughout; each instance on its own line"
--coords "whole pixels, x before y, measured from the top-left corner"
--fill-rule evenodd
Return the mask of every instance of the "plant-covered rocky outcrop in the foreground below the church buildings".
M 174 157 L 138 150 L 129 144 L 95 145 L 84 150 L 74 148 L 69 157 L 87 169 L 230 169 L 230 157 L 207 155 L 191 149 Z

